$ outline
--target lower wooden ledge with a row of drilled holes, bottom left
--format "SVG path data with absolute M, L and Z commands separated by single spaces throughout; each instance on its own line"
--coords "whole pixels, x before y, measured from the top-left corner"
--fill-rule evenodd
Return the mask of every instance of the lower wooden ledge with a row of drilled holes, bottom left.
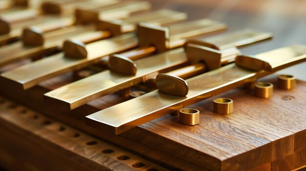
M 0 97 L 0 166 L 11 171 L 165 171 Z

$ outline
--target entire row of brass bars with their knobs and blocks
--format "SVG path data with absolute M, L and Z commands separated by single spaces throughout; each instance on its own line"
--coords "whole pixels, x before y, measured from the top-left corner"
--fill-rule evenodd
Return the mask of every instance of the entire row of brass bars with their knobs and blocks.
M 185 13 L 149 11 L 147 1 L 1 3 L 1 89 L 26 90 L 74 71 L 79 80 L 44 95 L 45 105 L 73 110 L 139 83 L 154 87 L 86 117 L 87 125 L 115 134 L 306 59 L 303 45 L 241 55 L 238 47 L 270 39 L 272 34 L 243 29 L 195 38 L 224 31 L 226 24 L 211 19 L 183 21 Z M 80 74 L 84 68 L 99 69 Z

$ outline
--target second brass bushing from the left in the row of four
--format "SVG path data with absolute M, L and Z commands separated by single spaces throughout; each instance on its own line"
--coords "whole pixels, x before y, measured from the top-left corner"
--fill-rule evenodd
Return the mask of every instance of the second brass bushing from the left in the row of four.
M 230 98 L 217 98 L 214 100 L 214 112 L 217 114 L 231 114 L 234 109 L 234 101 Z

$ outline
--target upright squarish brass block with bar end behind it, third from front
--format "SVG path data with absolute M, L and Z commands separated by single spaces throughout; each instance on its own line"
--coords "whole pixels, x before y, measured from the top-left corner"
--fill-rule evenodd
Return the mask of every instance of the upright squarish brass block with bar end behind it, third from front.
M 218 32 L 226 29 L 226 25 L 211 19 L 198 19 L 187 23 L 159 27 L 148 23 L 140 23 L 137 28 L 140 46 L 154 46 L 157 52 L 182 46 L 186 38 L 202 34 Z

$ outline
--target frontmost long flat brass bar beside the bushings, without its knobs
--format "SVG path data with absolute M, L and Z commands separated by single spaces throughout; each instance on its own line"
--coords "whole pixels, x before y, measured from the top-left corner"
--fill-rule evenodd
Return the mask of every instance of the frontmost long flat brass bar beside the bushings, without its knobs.
M 306 60 L 306 46 L 294 45 L 259 54 L 276 72 Z M 187 79 L 187 96 L 168 95 L 158 90 L 86 116 L 86 124 L 105 132 L 123 133 L 155 118 L 177 111 L 214 95 L 226 92 L 271 74 L 244 69 L 235 63 Z

